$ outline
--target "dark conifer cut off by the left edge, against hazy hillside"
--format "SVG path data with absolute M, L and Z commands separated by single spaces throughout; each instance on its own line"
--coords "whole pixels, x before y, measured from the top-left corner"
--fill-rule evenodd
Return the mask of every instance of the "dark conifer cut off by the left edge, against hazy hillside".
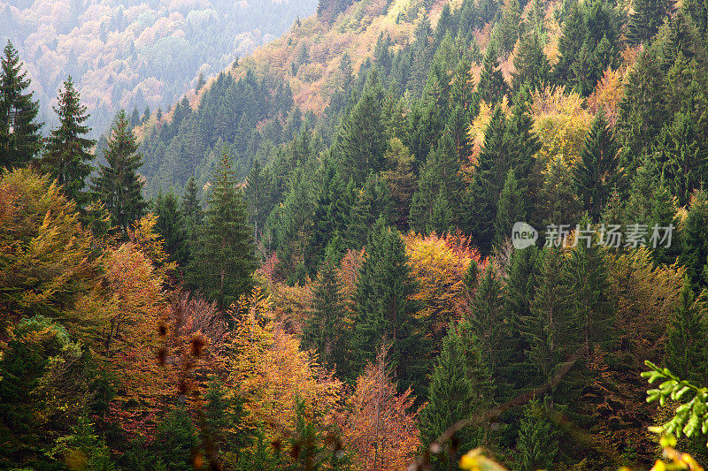
M 34 92 L 27 71 L 21 72 L 17 50 L 8 41 L 0 71 L 0 165 L 6 169 L 29 163 L 42 148 L 40 129 L 36 121 L 39 102 L 32 101 Z

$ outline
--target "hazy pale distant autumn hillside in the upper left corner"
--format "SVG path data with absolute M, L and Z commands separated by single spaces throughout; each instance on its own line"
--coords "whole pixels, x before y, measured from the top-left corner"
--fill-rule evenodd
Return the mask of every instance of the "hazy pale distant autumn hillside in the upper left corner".
M 40 118 L 67 76 L 104 132 L 120 109 L 166 109 L 235 59 L 285 33 L 314 0 L 0 1 L 0 43 L 19 50 L 42 103 Z

